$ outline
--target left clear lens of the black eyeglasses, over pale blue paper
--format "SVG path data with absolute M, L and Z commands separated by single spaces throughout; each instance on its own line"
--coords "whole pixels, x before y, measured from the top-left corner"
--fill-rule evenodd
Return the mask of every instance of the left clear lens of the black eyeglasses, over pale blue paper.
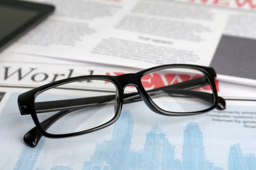
M 47 133 L 76 133 L 110 122 L 116 115 L 117 99 L 115 84 L 89 79 L 39 93 L 35 110 Z

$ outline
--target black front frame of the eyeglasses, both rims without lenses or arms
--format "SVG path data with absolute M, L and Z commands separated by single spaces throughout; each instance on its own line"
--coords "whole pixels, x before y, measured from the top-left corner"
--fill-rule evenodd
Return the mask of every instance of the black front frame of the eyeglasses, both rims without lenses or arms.
M 175 114 L 175 112 L 168 112 L 166 110 L 160 109 L 154 101 L 150 98 L 144 87 L 142 86 L 141 78 L 144 75 L 147 75 L 149 73 L 153 73 L 155 71 L 160 71 L 165 68 L 184 68 L 184 69 L 195 69 L 200 72 L 202 72 L 209 81 L 209 85 L 212 88 L 212 95 L 213 95 L 213 104 L 211 107 L 199 110 L 195 112 L 182 112 L 179 114 Z M 193 114 L 200 114 L 202 112 L 207 112 L 209 110 L 215 109 L 218 105 L 218 95 L 217 95 L 217 88 L 215 85 L 215 78 L 216 78 L 215 70 L 212 67 L 204 67 L 201 65 L 189 65 L 189 64 L 169 64 L 169 65 L 160 65 L 156 67 L 151 67 L 149 69 L 144 69 L 142 71 L 139 71 L 137 73 L 128 73 L 125 75 L 119 75 L 119 76 L 112 76 L 112 75 L 85 75 L 85 76 L 75 76 L 72 78 L 65 78 L 62 80 L 58 80 L 55 82 L 50 82 L 49 84 L 45 84 L 43 86 L 39 86 L 37 88 L 34 88 L 28 92 L 22 93 L 18 96 L 18 106 L 20 109 L 20 112 L 22 115 L 24 114 L 31 114 L 33 122 L 35 123 L 35 126 L 39 129 L 39 132 L 44 135 L 45 137 L 50 138 L 62 138 L 62 137 L 72 137 L 76 135 L 83 135 L 85 133 L 91 133 L 93 131 L 97 131 L 98 129 L 102 129 L 104 127 L 110 126 L 111 124 L 114 124 L 116 120 L 119 118 L 121 114 L 121 109 L 123 105 L 123 90 L 127 86 L 135 86 L 140 94 L 140 97 L 144 101 L 144 103 L 154 112 L 158 114 L 162 114 L 165 116 L 186 116 L 186 115 L 193 115 Z M 128 78 L 129 80 L 125 80 L 125 78 Z M 87 129 L 85 131 L 77 131 L 75 133 L 64 133 L 64 134 L 52 134 L 48 133 L 41 127 L 41 123 L 39 122 L 37 118 L 37 113 L 35 112 L 35 98 L 37 95 L 39 95 L 42 92 L 45 92 L 51 88 L 54 88 L 56 86 L 60 86 L 62 84 L 67 84 L 70 82 L 75 82 L 77 80 L 83 80 L 83 79 L 93 79 L 93 80 L 108 80 L 109 82 L 112 82 L 116 86 L 116 92 L 118 96 L 117 101 L 117 109 L 115 112 L 115 116 L 105 124 L 102 124 L 97 127 L 93 127 L 91 129 Z M 171 113 L 171 114 L 168 114 Z

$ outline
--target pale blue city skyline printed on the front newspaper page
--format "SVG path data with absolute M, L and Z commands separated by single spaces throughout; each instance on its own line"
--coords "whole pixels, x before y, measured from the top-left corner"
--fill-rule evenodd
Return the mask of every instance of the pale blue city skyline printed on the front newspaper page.
M 133 126 L 133 117 L 129 111 L 123 111 L 114 124 L 112 138 L 96 144 L 91 159 L 82 162 L 82 169 L 224 170 L 223 167 L 216 167 L 211 160 L 205 158 L 203 133 L 195 122 L 189 122 L 184 129 L 181 160 L 175 158 L 175 146 L 170 143 L 163 129 L 158 125 L 152 126 L 145 134 L 146 140 L 142 149 L 131 149 Z M 24 146 L 16 163 L 16 169 L 40 169 L 35 164 L 44 140 L 37 148 Z M 227 165 L 227 170 L 256 169 L 256 157 L 254 154 L 244 155 L 240 144 L 236 143 L 229 148 Z M 72 169 L 72 165 L 51 167 L 51 170 L 58 169 Z

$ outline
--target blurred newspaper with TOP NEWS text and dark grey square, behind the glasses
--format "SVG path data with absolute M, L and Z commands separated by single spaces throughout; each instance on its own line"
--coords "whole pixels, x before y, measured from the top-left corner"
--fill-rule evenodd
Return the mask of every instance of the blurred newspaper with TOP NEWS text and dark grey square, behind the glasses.
M 13 51 L 137 68 L 206 65 L 220 80 L 256 85 L 253 0 L 43 2 L 56 5 L 55 14 Z

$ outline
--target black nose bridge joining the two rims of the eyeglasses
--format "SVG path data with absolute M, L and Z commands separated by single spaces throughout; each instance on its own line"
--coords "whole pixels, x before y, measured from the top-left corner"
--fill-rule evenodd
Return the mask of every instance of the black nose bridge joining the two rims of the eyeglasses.
M 121 84 L 121 88 L 125 89 L 127 86 L 138 87 L 139 80 L 135 73 L 129 73 L 125 75 L 119 75 L 118 80 Z

